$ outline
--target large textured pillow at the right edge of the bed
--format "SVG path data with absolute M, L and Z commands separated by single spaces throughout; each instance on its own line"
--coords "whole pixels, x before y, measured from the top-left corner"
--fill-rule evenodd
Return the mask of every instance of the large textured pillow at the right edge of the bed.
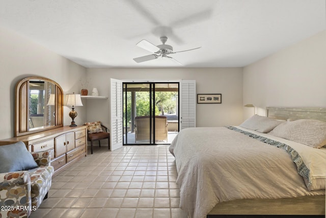
M 268 134 L 319 149 L 326 144 L 326 122 L 316 119 L 288 120 Z

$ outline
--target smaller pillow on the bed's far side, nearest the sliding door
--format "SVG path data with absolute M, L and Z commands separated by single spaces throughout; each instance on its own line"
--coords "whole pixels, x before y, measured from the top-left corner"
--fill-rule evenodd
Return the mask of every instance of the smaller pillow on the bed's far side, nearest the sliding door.
M 252 117 L 245 120 L 239 126 L 250 130 L 255 130 L 257 132 L 267 133 L 283 122 L 284 121 L 271 119 L 266 116 L 259 116 L 255 114 Z

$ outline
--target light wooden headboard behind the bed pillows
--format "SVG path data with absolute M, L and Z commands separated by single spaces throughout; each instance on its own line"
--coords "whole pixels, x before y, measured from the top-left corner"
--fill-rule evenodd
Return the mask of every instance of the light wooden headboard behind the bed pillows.
M 266 107 L 266 115 L 273 119 L 318 119 L 326 121 L 326 108 Z

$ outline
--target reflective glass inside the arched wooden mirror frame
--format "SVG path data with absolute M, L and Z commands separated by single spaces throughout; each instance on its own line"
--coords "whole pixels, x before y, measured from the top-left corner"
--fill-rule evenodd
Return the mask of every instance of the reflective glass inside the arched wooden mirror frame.
M 55 85 L 41 80 L 30 81 L 29 129 L 55 125 Z M 50 97 L 52 95 L 51 101 Z

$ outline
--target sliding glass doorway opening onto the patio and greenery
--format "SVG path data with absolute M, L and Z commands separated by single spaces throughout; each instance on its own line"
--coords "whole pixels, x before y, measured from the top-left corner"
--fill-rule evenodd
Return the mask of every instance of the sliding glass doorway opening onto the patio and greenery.
M 123 83 L 123 144 L 170 144 L 179 132 L 179 83 Z

